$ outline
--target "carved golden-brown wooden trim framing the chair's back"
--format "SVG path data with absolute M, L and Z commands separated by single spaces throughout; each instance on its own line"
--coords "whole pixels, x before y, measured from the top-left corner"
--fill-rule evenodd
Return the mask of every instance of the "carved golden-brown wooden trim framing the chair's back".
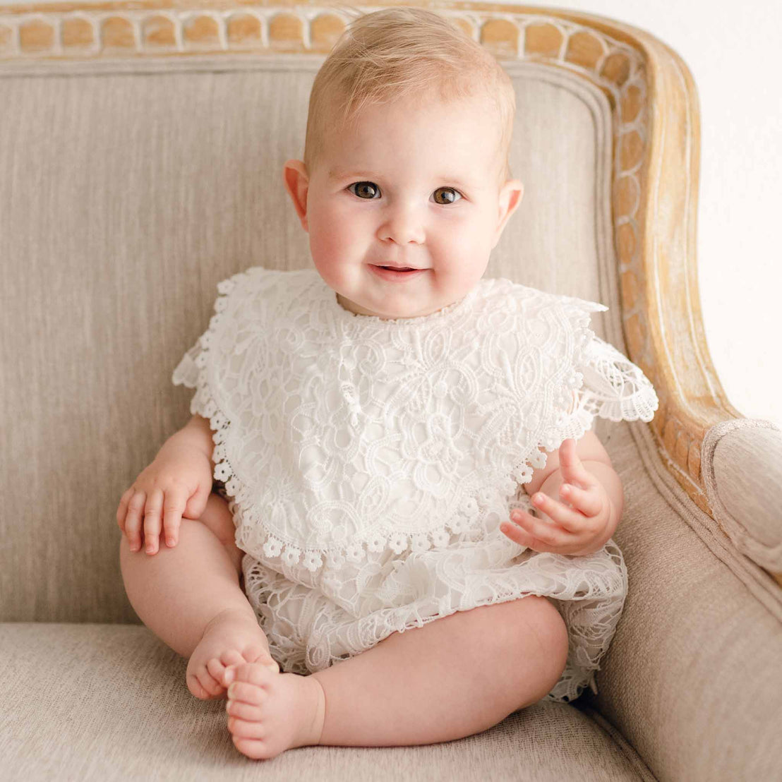
M 344 3 L 343 5 L 357 5 Z M 683 60 L 630 25 L 559 9 L 421 0 L 498 59 L 565 68 L 612 109 L 612 220 L 630 359 L 660 398 L 651 422 L 666 468 L 713 517 L 701 475 L 705 432 L 743 418 L 708 352 L 698 296 L 698 95 Z M 346 24 L 339 4 L 301 0 L 32 3 L 2 9 L 0 63 L 291 52 L 324 56 Z M 782 584 L 782 574 L 772 574 Z

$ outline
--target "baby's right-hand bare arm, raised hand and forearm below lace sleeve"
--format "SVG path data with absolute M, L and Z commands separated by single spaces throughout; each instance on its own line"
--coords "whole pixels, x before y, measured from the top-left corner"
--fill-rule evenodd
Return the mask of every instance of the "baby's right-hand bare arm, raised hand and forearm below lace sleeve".
M 558 450 L 549 452 L 546 466 L 533 472 L 524 489 L 553 523 L 515 510 L 512 523 L 500 530 L 533 551 L 592 554 L 614 534 L 622 517 L 622 482 L 591 431 L 578 443 L 566 439 Z

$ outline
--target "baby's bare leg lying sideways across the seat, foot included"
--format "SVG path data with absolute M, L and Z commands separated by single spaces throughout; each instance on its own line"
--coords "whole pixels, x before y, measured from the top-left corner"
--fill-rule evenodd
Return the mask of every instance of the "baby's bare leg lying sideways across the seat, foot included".
M 229 668 L 228 730 L 251 758 L 303 744 L 452 741 L 539 701 L 567 655 L 565 622 L 545 597 L 484 605 L 392 633 L 312 676 Z M 306 722 L 292 725 L 297 714 Z

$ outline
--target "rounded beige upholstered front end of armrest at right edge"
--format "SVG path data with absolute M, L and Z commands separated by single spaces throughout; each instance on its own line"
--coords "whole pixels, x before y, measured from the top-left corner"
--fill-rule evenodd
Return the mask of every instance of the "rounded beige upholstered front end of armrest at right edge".
M 769 421 L 739 418 L 703 439 L 701 474 L 713 517 L 738 551 L 782 574 L 782 432 Z

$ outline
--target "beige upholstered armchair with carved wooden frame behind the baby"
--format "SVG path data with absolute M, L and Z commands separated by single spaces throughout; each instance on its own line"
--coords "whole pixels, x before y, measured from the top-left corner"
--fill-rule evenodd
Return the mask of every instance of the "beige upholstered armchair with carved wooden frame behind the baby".
M 131 609 L 115 511 L 189 417 L 171 373 L 217 282 L 311 264 L 282 163 L 346 20 L 317 0 L 17 5 L 0 9 L 4 779 L 782 779 L 782 433 L 730 406 L 708 354 L 691 74 L 602 17 L 432 7 L 517 91 L 526 193 L 487 276 L 607 304 L 597 334 L 660 397 L 651 425 L 597 425 L 630 578 L 597 694 L 443 744 L 236 752 L 224 702 L 193 698 Z

